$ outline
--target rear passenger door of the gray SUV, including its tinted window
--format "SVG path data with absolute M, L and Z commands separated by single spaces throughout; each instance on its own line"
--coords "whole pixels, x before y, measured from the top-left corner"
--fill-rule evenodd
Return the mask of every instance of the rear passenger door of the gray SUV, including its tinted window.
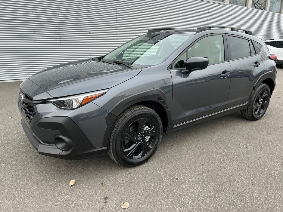
M 265 72 L 260 55 L 261 44 L 241 36 L 226 35 L 226 37 L 231 65 L 231 83 L 225 109 L 246 103 L 257 79 Z

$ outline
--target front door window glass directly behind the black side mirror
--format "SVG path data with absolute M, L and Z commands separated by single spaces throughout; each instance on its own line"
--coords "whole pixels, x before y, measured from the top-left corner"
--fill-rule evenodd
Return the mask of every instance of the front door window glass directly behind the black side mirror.
M 224 61 L 223 36 L 211 35 L 197 41 L 188 49 L 188 58 L 193 56 L 205 57 L 209 64 Z

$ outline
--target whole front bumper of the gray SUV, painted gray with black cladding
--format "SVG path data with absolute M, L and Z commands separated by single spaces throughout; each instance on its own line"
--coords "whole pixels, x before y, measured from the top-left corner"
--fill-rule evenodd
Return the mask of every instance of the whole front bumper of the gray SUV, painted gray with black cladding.
M 116 116 L 88 103 L 74 110 L 59 109 L 51 103 L 34 104 L 34 115 L 26 118 L 19 100 L 21 124 L 37 151 L 63 159 L 105 155 L 109 133 Z

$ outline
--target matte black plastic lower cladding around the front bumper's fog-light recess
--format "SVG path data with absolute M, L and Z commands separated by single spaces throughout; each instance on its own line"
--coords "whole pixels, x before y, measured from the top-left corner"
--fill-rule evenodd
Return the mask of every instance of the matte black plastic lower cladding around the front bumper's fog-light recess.
M 46 144 L 32 133 L 26 122 L 21 124 L 26 136 L 33 147 L 42 155 L 48 155 L 62 159 L 83 159 L 105 155 L 107 147 L 95 148 L 79 127 L 66 116 L 41 118 L 36 125 L 39 128 L 60 134 L 54 135 L 54 140 Z

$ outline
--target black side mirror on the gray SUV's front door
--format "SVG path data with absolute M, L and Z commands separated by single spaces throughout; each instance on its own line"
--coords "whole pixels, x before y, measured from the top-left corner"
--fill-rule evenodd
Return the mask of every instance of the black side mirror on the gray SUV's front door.
M 186 61 L 186 70 L 183 74 L 189 74 L 195 70 L 205 69 L 208 66 L 208 59 L 204 57 L 190 57 Z

